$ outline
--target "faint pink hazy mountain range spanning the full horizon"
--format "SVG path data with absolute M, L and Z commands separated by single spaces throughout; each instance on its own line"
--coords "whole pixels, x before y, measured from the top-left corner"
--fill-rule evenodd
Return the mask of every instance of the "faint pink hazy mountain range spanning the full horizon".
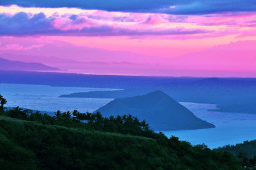
M 3 38 L 1 46 L 12 44 L 12 41 Z M 30 41 L 30 46 L 38 44 L 36 39 L 26 41 Z M 111 51 L 57 40 L 28 50 L 0 50 L 4 59 L 38 62 L 72 73 L 222 77 L 255 77 L 255 53 L 255 41 L 250 40 L 212 46 L 200 52 L 184 52 L 176 57 Z

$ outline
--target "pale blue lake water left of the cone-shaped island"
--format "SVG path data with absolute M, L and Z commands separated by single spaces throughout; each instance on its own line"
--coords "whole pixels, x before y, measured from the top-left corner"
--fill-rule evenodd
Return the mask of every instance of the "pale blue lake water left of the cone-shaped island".
M 47 85 L 22 85 L 0 83 L 0 94 L 7 99 L 6 107 L 20 106 L 44 111 L 95 111 L 112 99 L 61 98 L 61 94 L 111 90 L 84 87 L 51 87 Z M 114 90 L 114 89 L 112 89 Z

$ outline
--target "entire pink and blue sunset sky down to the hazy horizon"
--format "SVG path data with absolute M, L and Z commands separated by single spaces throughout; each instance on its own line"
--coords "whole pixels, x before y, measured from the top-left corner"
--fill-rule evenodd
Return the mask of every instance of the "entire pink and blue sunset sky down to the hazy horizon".
M 256 77 L 256 1 L 1 0 L 0 57 L 73 73 Z

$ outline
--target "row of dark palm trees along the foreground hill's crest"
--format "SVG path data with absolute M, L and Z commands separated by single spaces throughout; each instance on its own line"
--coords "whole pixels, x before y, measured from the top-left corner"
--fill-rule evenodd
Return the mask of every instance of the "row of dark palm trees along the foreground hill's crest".
M 121 134 L 133 134 L 136 136 L 145 136 L 157 138 L 157 134 L 150 130 L 148 124 L 143 120 L 140 122 L 137 117 L 132 115 L 123 115 L 104 118 L 97 113 L 79 113 L 79 111 L 67 111 L 61 113 L 56 111 L 54 117 L 42 114 L 39 111 L 33 113 L 31 110 L 22 110 L 16 107 L 5 112 L 5 115 L 22 120 L 40 122 L 47 125 L 63 125 L 65 127 L 94 129 L 99 131 L 118 132 Z

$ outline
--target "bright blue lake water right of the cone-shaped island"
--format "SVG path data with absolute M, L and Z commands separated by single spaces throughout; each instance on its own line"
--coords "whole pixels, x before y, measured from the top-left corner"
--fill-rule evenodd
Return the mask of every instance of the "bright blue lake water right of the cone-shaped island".
M 207 111 L 215 104 L 180 103 L 193 111 L 195 115 L 216 125 L 212 129 L 186 131 L 164 131 L 166 136 L 177 136 L 193 145 L 205 143 L 209 148 L 235 145 L 246 140 L 256 139 L 256 114 L 221 113 Z

